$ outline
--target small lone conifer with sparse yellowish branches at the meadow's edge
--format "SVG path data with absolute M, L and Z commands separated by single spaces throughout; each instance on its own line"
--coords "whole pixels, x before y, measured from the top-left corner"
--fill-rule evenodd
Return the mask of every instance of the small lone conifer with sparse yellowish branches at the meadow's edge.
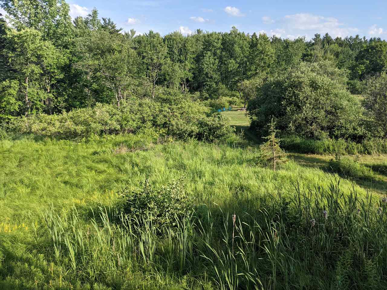
M 269 135 L 264 137 L 267 141 L 261 145 L 261 150 L 272 162 L 274 171 L 276 171 L 277 163 L 281 161 L 281 156 L 284 155 L 283 150 L 279 147 L 281 139 L 277 138 L 276 122 L 271 118 L 271 122 L 267 124 L 269 127 Z

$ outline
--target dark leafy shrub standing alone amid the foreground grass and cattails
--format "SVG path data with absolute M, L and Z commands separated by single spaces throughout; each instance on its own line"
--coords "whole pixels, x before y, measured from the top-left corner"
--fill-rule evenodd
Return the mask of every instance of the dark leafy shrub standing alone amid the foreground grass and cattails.
M 176 220 L 192 209 L 192 202 L 183 187 L 182 179 L 157 188 L 147 179 L 135 191 L 120 193 L 121 212 L 130 217 L 142 217 L 156 227 L 175 226 Z M 177 219 L 176 219 L 177 217 Z

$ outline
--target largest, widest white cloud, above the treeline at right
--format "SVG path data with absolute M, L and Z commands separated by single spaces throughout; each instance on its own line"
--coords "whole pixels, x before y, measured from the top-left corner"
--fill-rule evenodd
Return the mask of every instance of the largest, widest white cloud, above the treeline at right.
M 359 32 L 359 29 L 346 27 L 344 23 L 339 22 L 334 17 L 324 17 L 308 13 L 285 15 L 282 21 L 291 30 L 291 34 L 300 34 L 300 32 L 305 34 L 305 31 L 313 31 L 313 33 L 320 34 L 328 32 L 335 38 L 337 36 L 345 37 Z

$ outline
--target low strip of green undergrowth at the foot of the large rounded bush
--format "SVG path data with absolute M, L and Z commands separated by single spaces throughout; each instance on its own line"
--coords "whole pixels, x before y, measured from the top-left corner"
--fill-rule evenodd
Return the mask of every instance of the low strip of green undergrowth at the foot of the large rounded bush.
M 387 140 L 370 138 L 356 143 L 344 139 L 312 140 L 299 136 L 286 136 L 282 138 L 281 147 L 310 154 L 386 154 Z

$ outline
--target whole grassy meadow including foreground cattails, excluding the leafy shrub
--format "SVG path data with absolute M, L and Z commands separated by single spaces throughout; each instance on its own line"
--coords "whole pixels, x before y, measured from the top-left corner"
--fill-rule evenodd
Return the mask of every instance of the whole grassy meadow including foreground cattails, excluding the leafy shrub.
M 370 279 L 384 285 L 386 255 L 377 253 L 386 229 L 375 226 L 384 223 L 380 196 L 361 201 L 372 186 L 337 184 L 336 174 L 293 161 L 273 172 L 256 160 L 253 147 L 156 144 L 134 135 L 0 141 L 0 288 L 326 289 L 341 279 L 342 289 L 363 289 Z M 195 212 L 177 228 L 156 229 L 142 217 L 116 224 L 122 188 L 135 190 L 146 178 L 156 187 L 184 178 Z M 356 208 L 370 213 L 361 223 Z M 332 217 L 324 227 L 323 209 Z

